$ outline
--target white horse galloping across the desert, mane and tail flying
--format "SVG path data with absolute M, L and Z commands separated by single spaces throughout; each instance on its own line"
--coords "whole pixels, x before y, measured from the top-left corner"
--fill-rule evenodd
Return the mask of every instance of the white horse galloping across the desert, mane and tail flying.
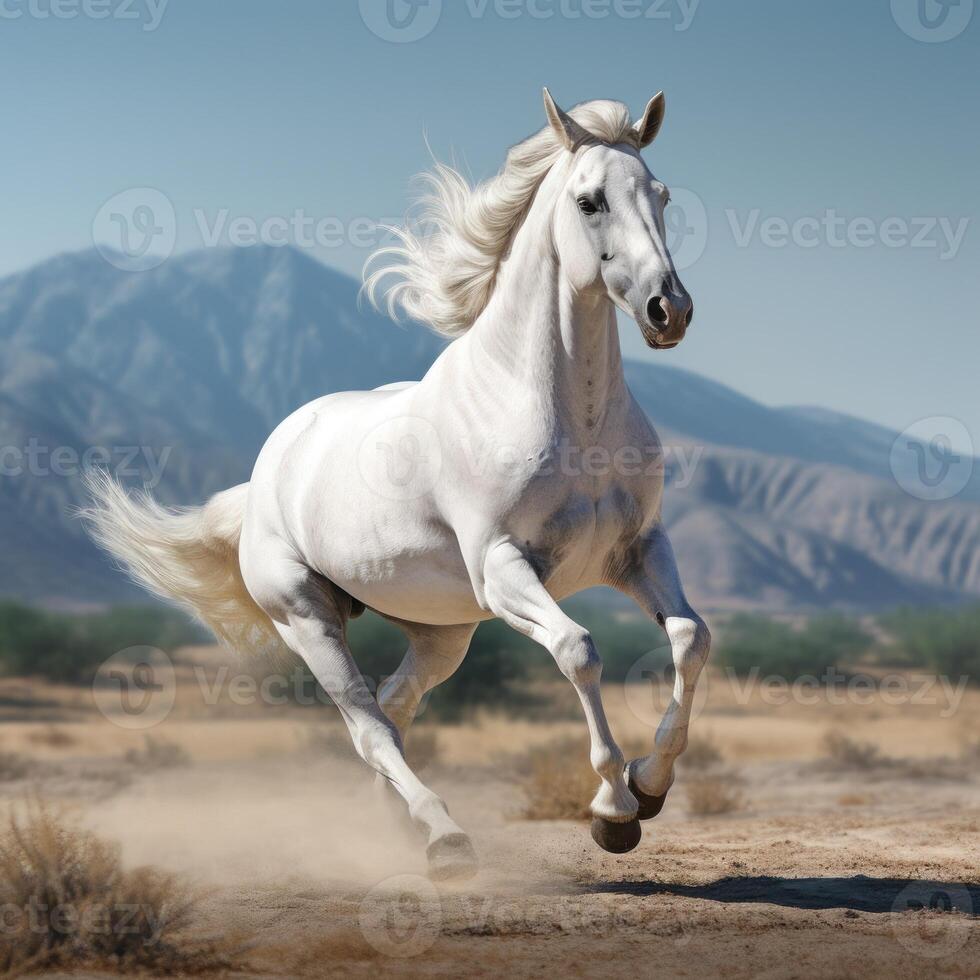
M 471 874 L 469 837 L 405 761 L 422 695 L 499 617 L 546 647 L 582 701 L 600 779 L 592 835 L 624 852 L 660 812 L 687 742 L 709 634 L 661 521 L 657 436 L 623 377 L 615 307 L 674 347 L 692 304 L 665 245 L 666 187 L 639 150 L 663 93 L 631 125 L 618 102 L 548 125 L 471 189 L 437 166 L 426 233 L 403 229 L 390 306 L 456 339 L 417 383 L 319 398 L 265 444 L 249 483 L 200 508 L 91 481 L 100 543 L 139 581 L 239 647 L 285 642 L 330 693 L 358 753 L 404 798 L 434 877 Z M 558 601 L 597 585 L 666 631 L 676 678 L 651 753 L 624 765 L 601 661 Z M 409 648 L 377 700 L 346 642 L 367 607 Z

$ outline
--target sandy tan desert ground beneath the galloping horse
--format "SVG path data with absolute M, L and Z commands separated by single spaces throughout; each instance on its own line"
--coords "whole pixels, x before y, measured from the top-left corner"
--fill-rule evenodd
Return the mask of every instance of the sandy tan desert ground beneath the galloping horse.
M 179 876 L 187 941 L 217 937 L 227 973 L 980 976 L 980 691 L 794 697 L 713 672 L 667 805 L 622 856 L 556 818 L 593 783 L 565 687 L 537 718 L 423 713 L 409 749 L 482 865 L 436 885 L 335 711 L 263 703 L 241 669 L 183 651 L 152 727 L 90 689 L 0 684 L 2 806 L 44 801 L 126 867 Z M 607 685 L 625 746 L 650 742 L 660 687 Z

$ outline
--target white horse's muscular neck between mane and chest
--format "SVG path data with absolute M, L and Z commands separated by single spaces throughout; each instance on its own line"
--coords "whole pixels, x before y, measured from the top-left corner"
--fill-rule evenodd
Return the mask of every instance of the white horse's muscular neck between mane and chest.
M 533 386 L 584 437 L 602 428 L 609 405 L 623 402 L 613 305 L 604 294 L 576 293 L 562 276 L 546 206 L 532 208 L 472 333 L 480 358 Z

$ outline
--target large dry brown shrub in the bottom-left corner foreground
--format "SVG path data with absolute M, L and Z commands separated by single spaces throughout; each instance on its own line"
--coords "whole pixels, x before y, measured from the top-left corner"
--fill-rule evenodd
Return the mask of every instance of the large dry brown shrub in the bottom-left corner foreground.
M 39 802 L 0 835 L 0 969 L 200 974 L 232 965 L 213 940 L 187 934 L 195 899 L 173 875 L 126 871 L 118 848 Z

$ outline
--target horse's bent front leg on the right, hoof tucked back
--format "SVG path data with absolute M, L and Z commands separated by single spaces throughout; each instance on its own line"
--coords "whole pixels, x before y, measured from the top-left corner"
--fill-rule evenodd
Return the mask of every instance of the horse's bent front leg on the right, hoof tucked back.
M 661 525 L 646 535 L 634 555 L 623 576 L 611 584 L 635 599 L 664 628 L 676 671 L 673 695 L 657 728 L 653 751 L 627 768 L 629 788 L 640 802 L 639 817 L 648 820 L 663 808 L 674 781 L 674 762 L 687 747 L 694 691 L 708 659 L 711 635 L 684 595 L 674 552 Z

